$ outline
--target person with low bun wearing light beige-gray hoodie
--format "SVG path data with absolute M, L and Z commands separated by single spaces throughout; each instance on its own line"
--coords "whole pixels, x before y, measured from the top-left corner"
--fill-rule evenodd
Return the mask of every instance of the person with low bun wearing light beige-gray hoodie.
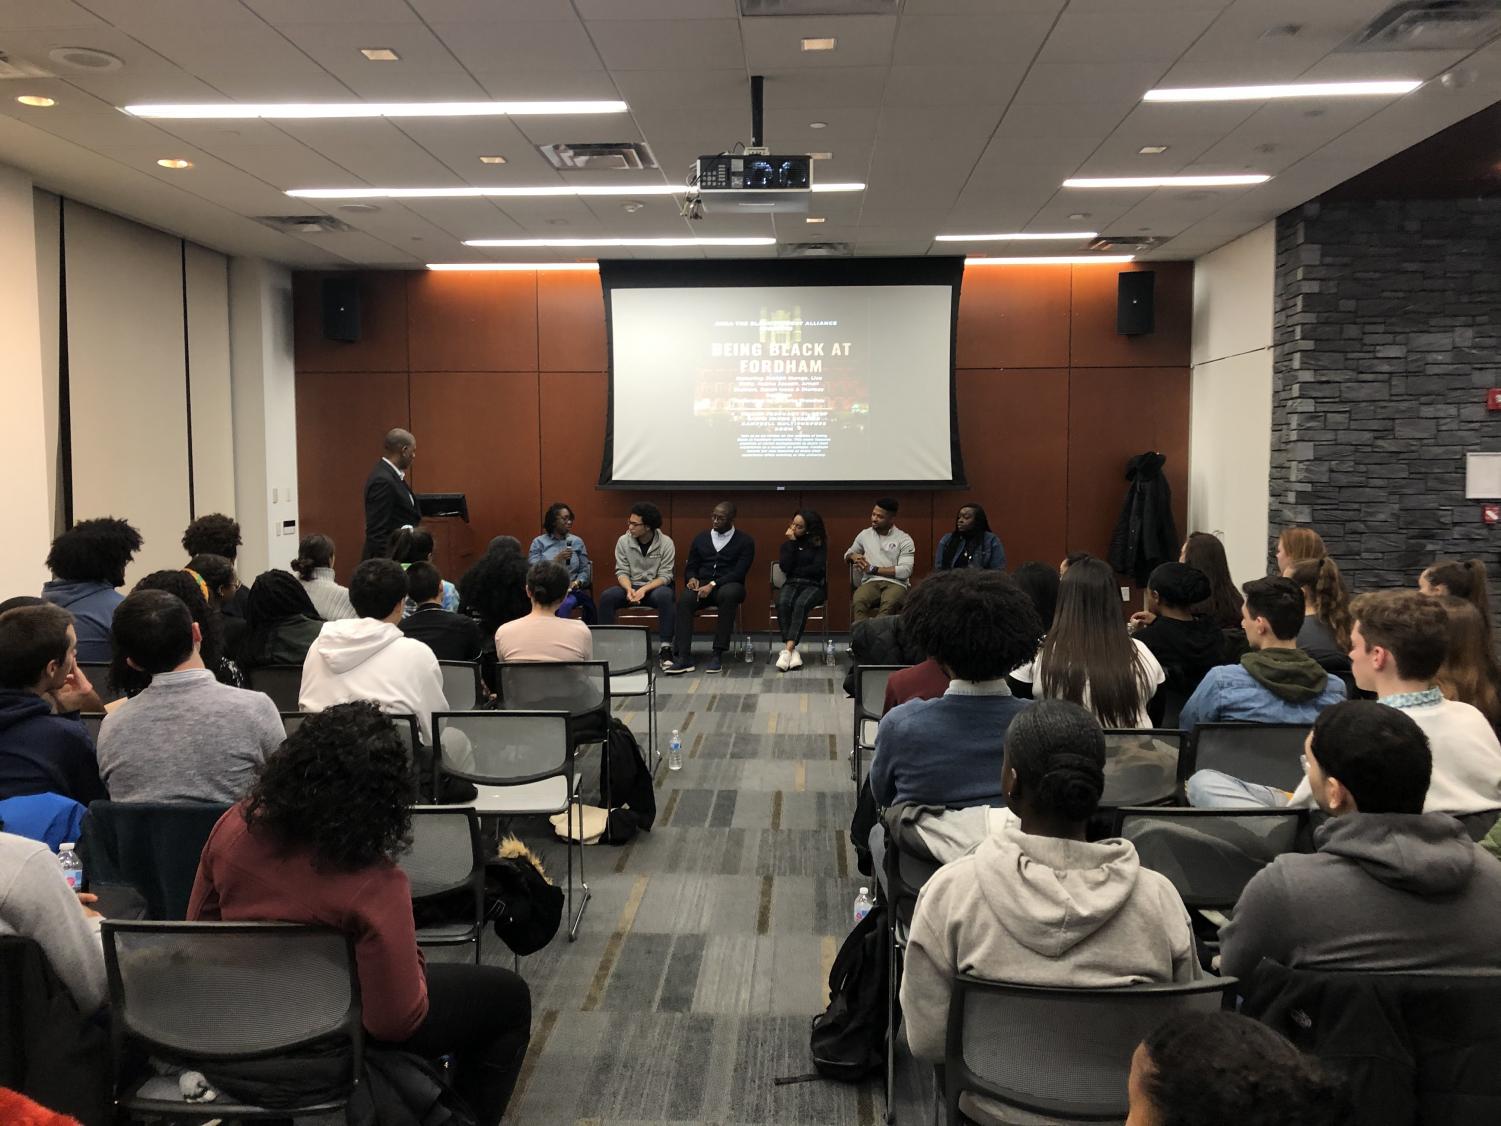
M 944 1058 L 956 973 L 1073 988 L 1202 976 L 1168 878 L 1142 868 L 1129 841 L 1085 841 L 1105 788 L 1105 734 L 1093 715 L 1063 700 L 1018 715 L 1001 788 L 1007 809 L 986 839 L 917 896 L 901 997 L 920 1060 Z

